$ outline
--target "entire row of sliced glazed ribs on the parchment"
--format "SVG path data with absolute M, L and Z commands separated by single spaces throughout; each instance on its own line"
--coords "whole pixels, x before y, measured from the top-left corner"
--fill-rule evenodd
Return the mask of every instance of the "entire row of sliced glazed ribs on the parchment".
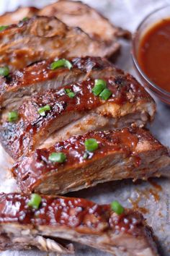
M 158 255 L 140 213 L 56 196 L 113 180 L 170 176 L 168 150 L 143 128 L 154 118 L 153 98 L 106 59 L 128 31 L 66 0 L 19 8 L 0 24 L 0 66 L 10 70 L 0 78 L 0 140 L 23 193 L 0 195 L 0 249 L 73 253 L 71 240 L 116 256 Z M 58 61 L 69 65 L 52 68 Z M 108 97 L 94 93 L 97 81 Z M 12 112 L 16 119 L 9 120 Z M 88 150 L 91 140 L 96 144 Z M 31 193 L 42 198 L 36 210 L 28 205 Z

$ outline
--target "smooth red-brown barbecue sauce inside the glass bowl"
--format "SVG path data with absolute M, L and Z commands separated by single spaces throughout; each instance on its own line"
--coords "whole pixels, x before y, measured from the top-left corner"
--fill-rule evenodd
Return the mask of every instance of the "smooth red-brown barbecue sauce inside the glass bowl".
M 170 19 L 156 23 L 143 36 L 138 62 L 152 82 L 170 92 Z

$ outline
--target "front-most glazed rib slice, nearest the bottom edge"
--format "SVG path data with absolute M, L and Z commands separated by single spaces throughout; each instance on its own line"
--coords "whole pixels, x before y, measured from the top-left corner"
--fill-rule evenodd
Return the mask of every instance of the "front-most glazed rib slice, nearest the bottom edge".
M 80 198 L 41 198 L 35 210 L 27 206 L 30 195 L 0 195 L 1 250 L 33 246 L 66 253 L 60 241 L 67 239 L 115 256 L 158 256 L 152 229 L 138 212 L 125 209 L 117 215 L 110 205 Z

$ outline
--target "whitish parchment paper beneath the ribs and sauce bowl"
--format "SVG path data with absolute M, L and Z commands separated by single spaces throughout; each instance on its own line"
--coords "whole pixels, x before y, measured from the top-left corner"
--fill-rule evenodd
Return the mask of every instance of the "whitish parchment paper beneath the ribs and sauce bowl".
M 53 1 L 35 1 L 35 0 L 0 0 L 0 13 L 12 11 L 19 5 L 32 5 L 42 7 L 45 4 L 50 4 Z M 143 20 L 153 9 L 163 7 L 170 4 L 168 0 L 85 0 L 87 4 L 98 9 L 102 14 L 109 18 L 115 25 L 127 28 L 130 31 L 135 31 L 138 23 Z M 123 43 L 122 54 L 117 59 L 116 65 L 125 71 L 135 75 L 133 63 L 130 57 L 130 43 Z M 138 78 L 138 77 L 137 77 Z M 153 96 L 154 97 L 154 96 Z M 156 98 L 157 114 L 156 119 L 149 129 L 153 135 L 158 138 L 164 145 L 170 146 L 170 108 L 159 102 Z M 16 189 L 14 179 L 7 171 L 9 166 L 6 166 L 6 153 L 0 147 L 0 192 L 12 192 Z M 70 196 L 85 197 L 95 202 L 104 204 L 119 200 L 122 205 L 129 208 L 135 207 L 142 210 L 149 225 L 153 227 L 161 255 L 170 255 L 170 181 L 168 179 L 152 179 L 152 182 L 160 185 L 153 186 L 151 182 L 121 181 L 109 182 L 100 184 L 92 189 L 84 189 L 83 191 L 70 193 Z M 101 256 L 109 255 L 105 252 L 99 252 L 97 249 L 91 249 L 79 244 L 75 244 L 76 255 L 79 256 Z M 40 255 L 56 255 L 53 253 L 47 254 L 39 251 L 26 252 L 1 252 L 3 256 L 40 256 Z

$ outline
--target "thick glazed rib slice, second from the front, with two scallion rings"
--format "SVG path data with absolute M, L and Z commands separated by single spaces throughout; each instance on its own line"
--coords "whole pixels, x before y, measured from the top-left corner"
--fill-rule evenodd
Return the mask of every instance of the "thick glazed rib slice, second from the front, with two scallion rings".
M 89 138 L 98 142 L 94 153 L 86 153 L 84 142 Z M 66 154 L 66 161 L 50 161 L 54 152 Z M 37 149 L 15 163 L 12 171 L 23 192 L 64 194 L 112 180 L 169 176 L 170 158 L 147 130 L 124 128 L 89 132 Z

